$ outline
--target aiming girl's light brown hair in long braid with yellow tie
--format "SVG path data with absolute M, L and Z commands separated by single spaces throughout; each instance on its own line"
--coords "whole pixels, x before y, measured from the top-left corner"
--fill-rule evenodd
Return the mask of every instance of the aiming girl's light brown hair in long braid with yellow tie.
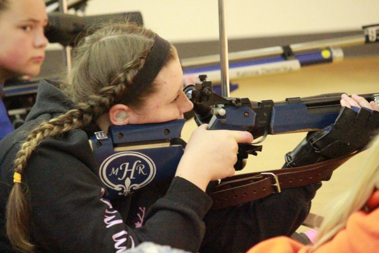
M 6 209 L 7 236 L 15 250 L 33 253 L 35 249 L 29 232 L 26 185 L 21 181 L 33 150 L 48 137 L 72 129 L 91 129 L 113 105 L 142 107 L 144 98 L 156 91 L 156 85 L 153 82 L 142 90 L 137 89 L 133 78 L 142 68 L 155 35 L 131 23 L 110 23 L 89 32 L 73 50 L 72 67 L 60 89 L 73 102 L 74 108 L 33 129 L 16 155 L 15 183 Z M 171 46 L 165 64 L 176 57 L 176 49 Z

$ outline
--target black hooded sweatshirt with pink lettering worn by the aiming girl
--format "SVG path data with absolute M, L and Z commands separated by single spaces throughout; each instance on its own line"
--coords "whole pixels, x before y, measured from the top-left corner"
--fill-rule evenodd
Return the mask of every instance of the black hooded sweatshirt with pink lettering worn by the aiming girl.
M 50 83 L 49 83 L 50 82 Z M 6 252 L 5 205 L 13 161 L 29 129 L 72 108 L 42 80 L 26 123 L 0 141 L 0 250 Z M 305 219 L 317 184 L 258 201 L 209 211 L 212 201 L 191 182 L 166 184 L 109 201 L 103 198 L 95 157 L 83 130 L 47 138 L 22 173 L 28 185 L 32 243 L 48 253 L 117 253 L 144 241 L 189 252 L 244 252 L 257 242 L 291 234 Z

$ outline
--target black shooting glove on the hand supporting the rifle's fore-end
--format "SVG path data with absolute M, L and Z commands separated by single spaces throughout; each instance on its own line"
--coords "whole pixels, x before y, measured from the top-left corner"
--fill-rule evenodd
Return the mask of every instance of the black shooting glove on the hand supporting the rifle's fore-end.
M 343 107 L 334 124 L 308 133 L 285 155 L 284 168 L 314 164 L 348 155 L 365 147 L 378 133 L 379 111 Z

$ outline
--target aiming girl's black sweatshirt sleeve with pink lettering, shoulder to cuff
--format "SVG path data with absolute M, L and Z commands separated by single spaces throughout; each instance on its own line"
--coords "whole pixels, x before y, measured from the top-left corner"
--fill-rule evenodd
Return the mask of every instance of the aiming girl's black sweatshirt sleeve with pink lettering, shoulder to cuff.
M 115 253 L 148 240 L 197 252 L 211 199 L 189 181 L 175 178 L 151 207 L 144 226 L 126 226 L 118 210 L 102 198 L 103 186 L 90 169 L 95 160 L 83 134 L 73 134 L 59 145 L 53 139 L 42 142 L 23 175 L 32 238 L 39 250 Z

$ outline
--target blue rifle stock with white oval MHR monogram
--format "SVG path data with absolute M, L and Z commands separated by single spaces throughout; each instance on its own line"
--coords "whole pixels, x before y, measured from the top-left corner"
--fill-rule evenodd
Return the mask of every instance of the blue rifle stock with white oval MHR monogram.
M 110 126 L 90 139 L 107 198 L 126 196 L 147 184 L 171 181 L 184 152 L 185 119 Z M 185 143 L 184 143 L 185 144 Z

